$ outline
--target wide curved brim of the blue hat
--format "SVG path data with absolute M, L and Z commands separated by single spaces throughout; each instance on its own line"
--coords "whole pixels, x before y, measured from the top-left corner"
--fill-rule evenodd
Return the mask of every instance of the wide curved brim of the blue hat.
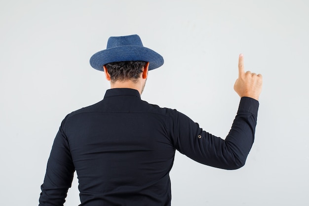
M 163 65 L 163 57 L 154 50 L 136 45 L 124 45 L 99 51 L 90 58 L 90 65 L 96 70 L 103 71 L 103 66 L 112 62 L 145 61 L 149 62 L 148 70 Z

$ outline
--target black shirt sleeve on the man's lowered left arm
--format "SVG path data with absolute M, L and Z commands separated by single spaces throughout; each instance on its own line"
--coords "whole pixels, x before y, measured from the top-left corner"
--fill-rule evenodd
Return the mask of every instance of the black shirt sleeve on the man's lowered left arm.
M 75 167 L 69 143 L 63 131 L 63 123 L 55 137 L 47 162 L 39 206 L 63 206 L 68 189 L 72 185 Z

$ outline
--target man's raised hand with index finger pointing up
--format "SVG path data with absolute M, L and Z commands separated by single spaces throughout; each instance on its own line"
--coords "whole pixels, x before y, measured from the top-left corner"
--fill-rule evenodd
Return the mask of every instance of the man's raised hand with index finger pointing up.
M 234 84 L 234 90 L 240 97 L 251 97 L 259 100 L 262 90 L 262 75 L 245 72 L 243 67 L 243 54 L 238 59 L 238 79 Z

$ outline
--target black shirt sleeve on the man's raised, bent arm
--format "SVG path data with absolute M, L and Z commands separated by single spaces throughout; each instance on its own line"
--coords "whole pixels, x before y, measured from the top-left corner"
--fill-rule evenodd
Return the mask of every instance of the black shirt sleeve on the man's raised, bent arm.
M 204 165 L 223 169 L 243 166 L 254 142 L 259 102 L 249 97 L 240 99 L 232 128 L 224 139 L 216 137 L 199 127 L 180 112 L 170 118 L 171 136 L 175 148 Z

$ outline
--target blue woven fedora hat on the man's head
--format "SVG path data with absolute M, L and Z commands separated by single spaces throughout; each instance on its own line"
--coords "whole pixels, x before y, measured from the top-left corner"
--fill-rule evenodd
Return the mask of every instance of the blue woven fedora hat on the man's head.
M 120 61 L 149 62 L 149 70 L 156 69 L 164 63 L 160 54 L 143 46 L 138 35 L 130 35 L 110 37 L 106 49 L 92 55 L 90 65 L 94 69 L 103 71 L 104 65 Z

